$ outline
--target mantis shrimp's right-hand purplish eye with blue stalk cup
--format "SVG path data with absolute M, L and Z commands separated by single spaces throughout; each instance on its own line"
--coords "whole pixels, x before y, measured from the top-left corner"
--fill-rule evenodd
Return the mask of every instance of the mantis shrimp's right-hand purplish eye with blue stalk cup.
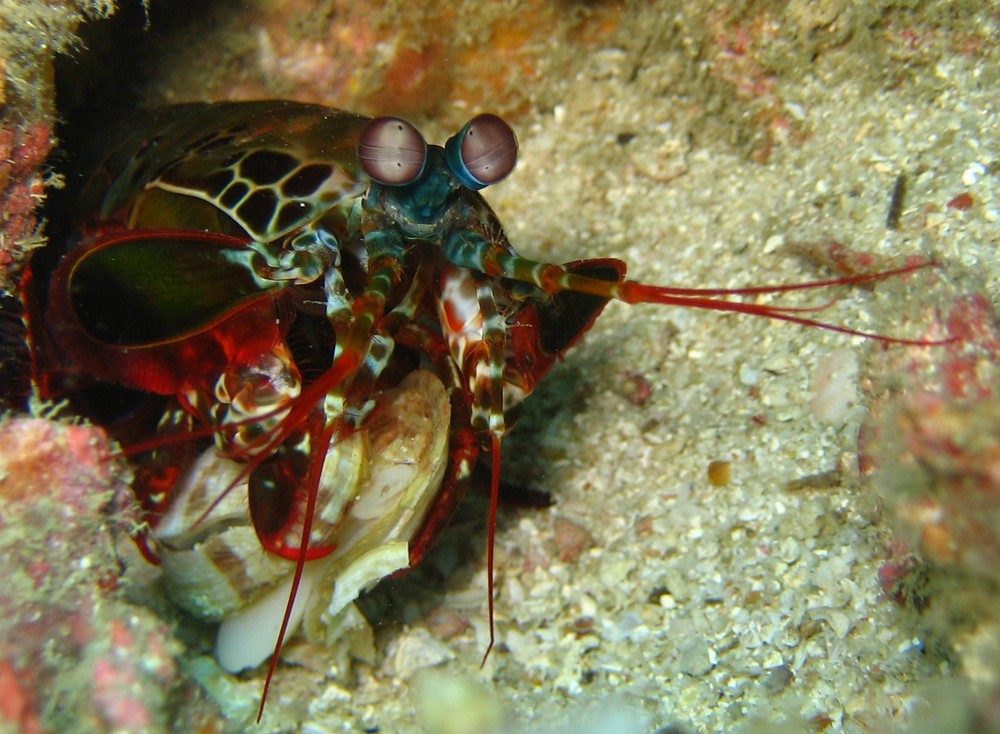
M 448 167 L 470 189 L 506 178 L 517 163 L 517 136 L 496 115 L 473 117 L 445 148 Z

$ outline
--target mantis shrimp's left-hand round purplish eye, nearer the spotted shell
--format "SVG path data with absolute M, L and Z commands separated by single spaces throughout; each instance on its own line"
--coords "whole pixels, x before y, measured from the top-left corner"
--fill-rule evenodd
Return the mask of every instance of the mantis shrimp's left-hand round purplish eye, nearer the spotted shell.
M 403 186 L 416 181 L 427 163 L 427 143 L 406 120 L 378 117 L 361 131 L 358 160 L 373 181 Z

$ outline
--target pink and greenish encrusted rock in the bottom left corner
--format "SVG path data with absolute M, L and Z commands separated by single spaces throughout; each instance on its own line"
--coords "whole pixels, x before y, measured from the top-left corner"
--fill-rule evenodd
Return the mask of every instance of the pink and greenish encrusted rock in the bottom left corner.
M 0 426 L 0 721 L 22 731 L 166 730 L 174 645 L 117 588 L 133 519 L 108 457 L 96 428 Z

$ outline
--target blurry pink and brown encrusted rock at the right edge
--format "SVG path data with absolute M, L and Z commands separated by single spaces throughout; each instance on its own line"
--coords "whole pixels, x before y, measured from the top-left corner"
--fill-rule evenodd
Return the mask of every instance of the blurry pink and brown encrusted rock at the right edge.
M 983 293 L 955 290 L 942 277 L 920 296 L 936 314 L 925 336 L 948 343 L 875 356 L 862 455 L 909 547 L 1000 580 L 1000 324 Z

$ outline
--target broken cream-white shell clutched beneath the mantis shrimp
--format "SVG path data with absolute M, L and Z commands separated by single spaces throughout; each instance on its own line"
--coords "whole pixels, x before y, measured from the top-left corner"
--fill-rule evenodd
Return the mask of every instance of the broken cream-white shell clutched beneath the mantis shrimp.
M 362 430 L 330 446 L 310 542 L 320 537 L 337 550 L 306 564 L 289 634 L 305 617 L 311 640 L 336 642 L 358 595 L 409 566 L 409 542 L 448 465 L 450 417 L 444 386 L 420 370 L 381 396 Z M 207 450 L 156 529 L 171 596 L 202 619 L 222 620 L 216 657 L 230 672 L 273 652 L 295 570 L 260 545 L 246 478 L 233 484 L 244 469 Z

